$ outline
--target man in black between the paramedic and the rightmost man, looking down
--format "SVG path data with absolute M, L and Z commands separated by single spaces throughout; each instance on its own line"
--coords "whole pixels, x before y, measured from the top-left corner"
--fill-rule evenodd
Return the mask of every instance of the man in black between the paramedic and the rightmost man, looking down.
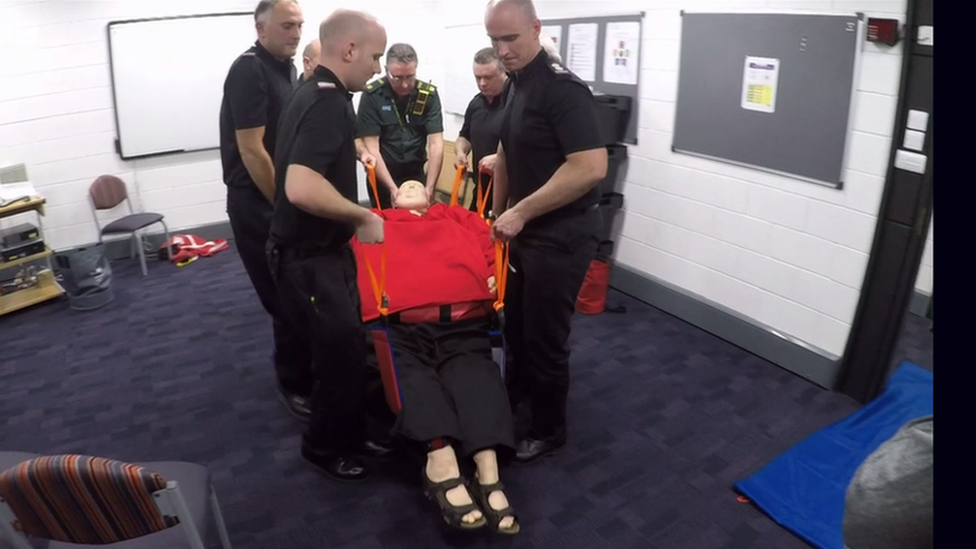
M 502 116 L 505 114 L 505 101 L 502 90 L 505 87 L 505 67 L 502 65 L 494 48 L 483 48 L 474 55 L 474 77 L 481 92 L 471 99 L 464 111 L 464 123 L 454 142 L 454 152 L 457 158 L 454 166 L 464 165 L 469 174 L 474 176 L 475 184 L 480 187 L 481 196 L 485 201 L 485 216 L 491 211 L 492 189 L 488 188 L 492 173 L 495 170 L 495 159 L 498 150 L 498 138 L 502 128 Z M 468 153 L 472 162 L 468 163 Z M 478 187 L 475 188 L 478 190 Z M 471 201 L 471 211 L 476 212 L 479 194 L 475 192 L 475 199 Z

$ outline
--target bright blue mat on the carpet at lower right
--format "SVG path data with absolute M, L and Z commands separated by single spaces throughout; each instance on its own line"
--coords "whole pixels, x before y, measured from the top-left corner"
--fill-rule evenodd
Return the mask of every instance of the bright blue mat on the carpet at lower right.
M 820 549 L 843 549 L 844 497 L 861 463 L 909 421 L 931 415 L 932 373 L 903 362 L 867 406 L 810 435 L 734 488 Z

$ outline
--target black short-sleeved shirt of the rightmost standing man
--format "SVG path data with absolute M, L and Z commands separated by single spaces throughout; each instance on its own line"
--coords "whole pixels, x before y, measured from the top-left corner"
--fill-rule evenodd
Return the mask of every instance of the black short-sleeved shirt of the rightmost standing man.
M 508 192 L 513 203 L 545 185 L 572 153 L 605 146 L 596 101 L 585 82 L 539 52 L 524 69 L 510 73 L 505 91 L 501 143 L 505 149 Z M 583 211 L 599 203 L 594 187 L 577 200 L 542 218 Z

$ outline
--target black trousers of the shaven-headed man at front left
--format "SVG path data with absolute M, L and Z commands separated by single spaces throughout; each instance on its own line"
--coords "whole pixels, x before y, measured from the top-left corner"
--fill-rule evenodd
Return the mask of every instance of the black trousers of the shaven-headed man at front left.
M 291 323 L 309 341 L 315 384 L 305 443 L 351 452 L 366 438 L 366 335 L 356 258 L 346 244 L 302 251 L 268 243 L 268 264 Z

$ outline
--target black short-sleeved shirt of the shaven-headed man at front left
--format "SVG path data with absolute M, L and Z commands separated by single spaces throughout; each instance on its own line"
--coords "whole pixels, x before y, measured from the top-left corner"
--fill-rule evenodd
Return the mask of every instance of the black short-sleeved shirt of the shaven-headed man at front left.
M 281 114 L 272 241 L 304 250 L 333 250 L 349 242 L 356 232 L 351 223 L 312 215 L 288 200 L 285 174 L 291 164 L 305 166 L 321 174 L 346 199 L 358 202 L 355 137 L 352 94 L 332 71 L 316 67 Z

